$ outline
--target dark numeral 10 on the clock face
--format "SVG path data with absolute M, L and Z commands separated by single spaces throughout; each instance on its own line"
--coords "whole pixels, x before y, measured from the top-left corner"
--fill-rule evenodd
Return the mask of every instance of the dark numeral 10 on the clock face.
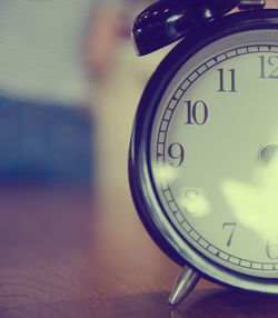
M 208 119 L 206 102 L 202 100 L 197 100 L 195 103 L 191 100 L 186 100 L 185 102 L 187 105 L 186 125 L 203 125 Z

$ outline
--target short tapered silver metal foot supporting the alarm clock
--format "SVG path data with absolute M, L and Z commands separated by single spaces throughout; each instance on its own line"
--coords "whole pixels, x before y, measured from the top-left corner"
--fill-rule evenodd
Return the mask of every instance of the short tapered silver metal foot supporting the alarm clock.
M 199 279 L 200 275 L 197 270 L 185 266 L 175 282 L 169 298 L 169 304 L 171 306 L 177 306 L 193 290 Z

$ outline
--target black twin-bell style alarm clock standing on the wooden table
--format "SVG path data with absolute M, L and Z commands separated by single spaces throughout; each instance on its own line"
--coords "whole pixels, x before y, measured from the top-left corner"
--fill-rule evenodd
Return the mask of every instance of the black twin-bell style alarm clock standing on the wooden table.
M 183 268 L 171 305 L 200 277 L 278 294 L 278 10 L 264 2 L 162 0 L 135 21 L 138 54 L 183 38 L 147 83 L 129 152 L 138 213 Z

